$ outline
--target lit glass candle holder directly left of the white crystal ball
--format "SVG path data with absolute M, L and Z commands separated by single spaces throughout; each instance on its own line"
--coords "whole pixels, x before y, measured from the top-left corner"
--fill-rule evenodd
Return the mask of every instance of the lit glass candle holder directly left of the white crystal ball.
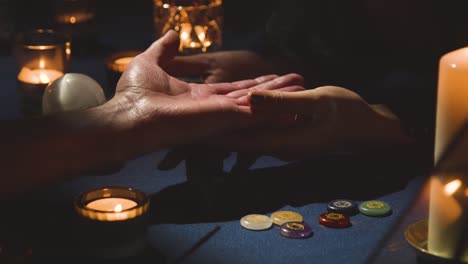
M 50 29 L 20 33 L 15 56 L 20 112 L 23 116 L 41 115 L 45 88 L 69 71 L 71 39 Z

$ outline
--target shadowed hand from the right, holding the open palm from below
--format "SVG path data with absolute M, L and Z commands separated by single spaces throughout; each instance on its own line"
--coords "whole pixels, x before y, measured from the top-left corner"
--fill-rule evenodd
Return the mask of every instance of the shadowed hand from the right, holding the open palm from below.
M 369 105 L 341 87 L 294 93 L 253 91 L 250 102 L 256 118 L 269 120 L 269 125 L 213 144 L 297 159 L 340 148 L 410 142 L 401 131 L 399 119 L 388 109 Z

